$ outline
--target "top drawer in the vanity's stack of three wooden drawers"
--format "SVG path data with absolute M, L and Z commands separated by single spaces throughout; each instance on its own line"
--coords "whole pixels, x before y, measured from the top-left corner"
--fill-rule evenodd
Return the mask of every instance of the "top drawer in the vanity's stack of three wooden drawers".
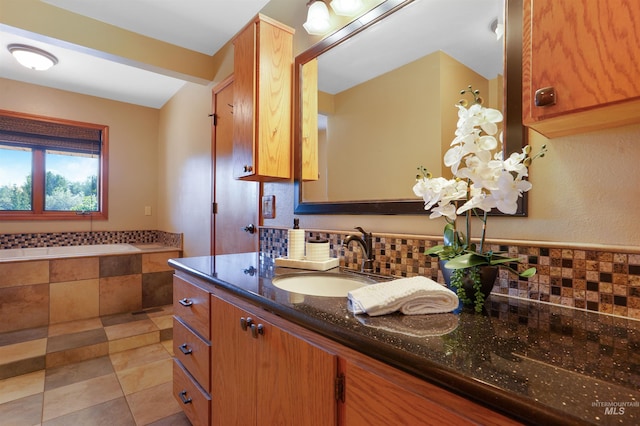
M 209 293 L 173 276 L 173 313 L 202 337 L 211 340 Z

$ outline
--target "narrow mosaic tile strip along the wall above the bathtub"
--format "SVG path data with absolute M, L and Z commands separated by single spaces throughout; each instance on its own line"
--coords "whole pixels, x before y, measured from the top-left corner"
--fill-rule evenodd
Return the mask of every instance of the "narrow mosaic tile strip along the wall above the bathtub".
M 182 234 L 164 231 L 90 231 L 0 234 L 0 250 L 96 244 L 158 243 L 182 249 Z

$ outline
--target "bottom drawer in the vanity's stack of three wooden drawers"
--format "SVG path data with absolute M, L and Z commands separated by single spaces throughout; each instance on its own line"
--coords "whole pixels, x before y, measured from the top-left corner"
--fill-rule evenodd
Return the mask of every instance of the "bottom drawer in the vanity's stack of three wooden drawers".
M 193 426 L 209 424 L 211 397 L 176 360 L 173 360 L 173 396 Z

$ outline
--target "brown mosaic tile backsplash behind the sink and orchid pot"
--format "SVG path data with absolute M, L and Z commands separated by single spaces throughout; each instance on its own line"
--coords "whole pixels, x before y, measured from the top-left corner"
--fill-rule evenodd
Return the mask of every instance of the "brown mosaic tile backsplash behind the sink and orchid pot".
M 317 235 L 329 240 L 331 256 L 340 258 L 340 266 L 360 269 L 360 247 L 342 246 L 348 234 L 307 231 L 306 236 Z M 424 254 L 436 244 L 442 241 L 374 234 L 375 273 L 423 275 L 442 283 L 438 259 Z M 520 270 L 531 266 L 538 270 L 529 279 L 500 270 L 494 293 L 640 320 L 640 253 L 513 244 L 490 244 L 489 249 L 519 258 Z M 287 230 L 261 228 L 260 251 L 272 258 L 286 256 Z

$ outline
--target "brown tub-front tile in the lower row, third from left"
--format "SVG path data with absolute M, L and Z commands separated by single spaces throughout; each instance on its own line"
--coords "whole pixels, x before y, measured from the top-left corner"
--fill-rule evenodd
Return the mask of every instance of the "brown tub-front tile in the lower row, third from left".
M 142 274 L 100 278 L 100 316 L 142 308 Z

